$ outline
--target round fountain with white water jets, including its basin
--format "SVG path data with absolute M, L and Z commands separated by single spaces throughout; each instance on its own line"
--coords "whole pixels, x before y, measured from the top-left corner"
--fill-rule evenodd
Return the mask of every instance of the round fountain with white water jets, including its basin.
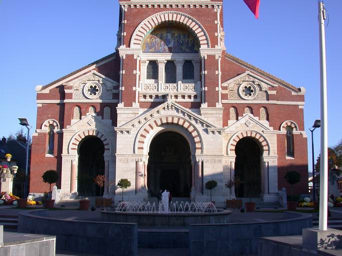
M 101 211 L 102 221 L 133 222 L 138 226 L 187 226 L 189 224 L 228 223 L 230 210 L 218 210 L 212 202 L 170 202 L 169 192 L 155 202 L 122 201 L 113 209 Z

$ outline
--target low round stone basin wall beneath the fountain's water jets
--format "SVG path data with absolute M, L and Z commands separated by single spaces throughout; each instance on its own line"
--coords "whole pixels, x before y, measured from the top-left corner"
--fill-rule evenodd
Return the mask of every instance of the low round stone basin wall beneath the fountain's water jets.
M 229 223 L 230 210 L 199 213 L 125 212 L 101 210 L 101 220 L 138 223 L 138 226 L 188 226 L 189 224 Z

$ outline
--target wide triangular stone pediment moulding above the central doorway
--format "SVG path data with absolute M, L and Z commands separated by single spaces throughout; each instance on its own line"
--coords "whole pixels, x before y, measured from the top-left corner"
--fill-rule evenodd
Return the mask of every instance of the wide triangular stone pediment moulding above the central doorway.
M 194 123 L 200 123 L 201 126 L 203 126 L 203 127 L 218 128 L 215 124 L 209 122 L 208 120 L 206 120 L 202 116 L 194 113 L 190 109 L 185 108 L 182 105 L 177 104 L 176 102 L 174 102 L 172 100 L 168 100 L 168 101 L 164 102 L 163 104 L 161 104 L 161 105 L 159 105 L 159 106 L 135 117 L 134 119 L 122 124 L 117 129 L 131 129 L 134 126 L 141 125 L 141 124 L 145 123 L 146 121 L 148 121 L 148 120 L 150 120 L 150 119 L 152 119 L 158 115 L 161 115 L 161 112 L 163 110 L 175 110 L 177 115 L 183 116 L 183 117 L 189 119 L 190 121 L 192 121 Z

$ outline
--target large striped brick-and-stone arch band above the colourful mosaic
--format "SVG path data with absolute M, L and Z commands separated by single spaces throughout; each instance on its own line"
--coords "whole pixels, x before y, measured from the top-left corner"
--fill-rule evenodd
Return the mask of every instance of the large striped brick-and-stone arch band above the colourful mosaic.
M 135 29 L 131 38 L 131 48 L 141 47 L 146 34 L 161 23 L 173 21 L 190 28 L 198 37 L 201 48 L 210 48 L 209 36 L 205 28 L 195 18 L 179 11 L 162 11 L 144 19 Z

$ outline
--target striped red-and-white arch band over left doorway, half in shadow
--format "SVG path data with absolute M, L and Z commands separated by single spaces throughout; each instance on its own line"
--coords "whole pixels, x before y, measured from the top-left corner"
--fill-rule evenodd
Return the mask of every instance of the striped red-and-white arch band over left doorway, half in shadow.
M 86 136 L 96 136 L 96 137 L 100 138 L 102 140 L 104 146 L 105 146 L 105 153 L 104 154 L 105 155 L 111 154 L 112 147 L 111 147 L 110 141 L 107 139 L 107 137 L 101 131 L 98 131 L 95 129 L 81 130 L 81 131 L 77 132 L 71 138 L 71 140 L 69 142 L 68 153 L 73 154 L 73 155 L 77 155 L 79 143 Z

